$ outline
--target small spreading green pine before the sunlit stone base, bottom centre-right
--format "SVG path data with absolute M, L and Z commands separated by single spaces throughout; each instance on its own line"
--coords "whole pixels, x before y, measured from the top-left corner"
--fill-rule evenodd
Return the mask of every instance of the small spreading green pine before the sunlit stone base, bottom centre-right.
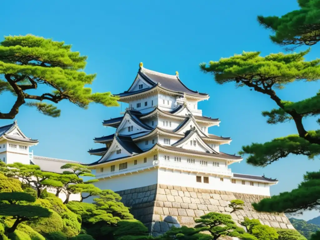
M 238 229 L 230 215 L 218 212 L 209 212 L 196 219 L 195 222 L 198 223 L 196 228 L 209 231 L 213 239 L 217 239 L 221 235 L 227 235 L 230 230 Z

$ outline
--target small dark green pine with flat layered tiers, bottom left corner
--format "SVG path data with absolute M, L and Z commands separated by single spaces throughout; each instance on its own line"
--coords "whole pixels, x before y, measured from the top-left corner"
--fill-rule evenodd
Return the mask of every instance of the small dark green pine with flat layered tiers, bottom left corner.
M 12 216 L 15 219 L 12 227 L 6 229 L 12 233 L 23 221 L 32 221 L 38 218 L 50 217 L 48 209 L 40 206 L 30 205 L 36 201 L 34 196 L 23 192 L 2 192 L 0 193 L 0 215 Z M 9 203 L 9 204 L 8 204 Z

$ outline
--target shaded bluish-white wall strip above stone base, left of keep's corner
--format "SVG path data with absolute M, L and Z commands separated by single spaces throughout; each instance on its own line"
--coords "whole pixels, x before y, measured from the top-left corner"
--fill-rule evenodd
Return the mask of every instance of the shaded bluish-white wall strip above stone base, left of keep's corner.
M 145 170 L 132 174 L 114 176 L 95 182 L 94 185 L 100 189 L 111 189 L 112 191 L 120 191 L 130 188 L 139 188 L 157 183 L 158 171 Z

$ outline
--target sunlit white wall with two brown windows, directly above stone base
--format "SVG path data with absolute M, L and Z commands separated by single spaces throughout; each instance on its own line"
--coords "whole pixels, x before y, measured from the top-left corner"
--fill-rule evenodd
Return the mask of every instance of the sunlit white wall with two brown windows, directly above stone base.
M 196 181 L 196 176 L 205 176 L 209 177 L 209 183 L 203 183 Z M 263 196 L 270 196 L 269 186 L 258 187 L 242 185 L 240 183 L 233 184 L 231 183 L 230 178 L 223 178 L 223 181 L 220 180 L 220 177 L 210 176 L 206 174 L 196 174 L 188 173 L 181 171 L 174 171 L 171 169 L 159 169 L 158 170 L 158 184 L 167 184 L 167 185 L 176 185 L 183 187 L 193 187 L 193 188 L 204 188 L 204 189 L 214 189 L 214 190 L 224 190 L 235 193 L 244 193 L 244 194 L 256 194 Z

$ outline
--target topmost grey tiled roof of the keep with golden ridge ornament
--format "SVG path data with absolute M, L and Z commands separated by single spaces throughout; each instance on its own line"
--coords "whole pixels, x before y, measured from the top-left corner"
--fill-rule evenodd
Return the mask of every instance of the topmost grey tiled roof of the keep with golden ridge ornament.
M 200 97 L 200 98 L 208 98 L 209 94 L 207 93 L 200 93 L 198 91 L 193 91 L 189 89 L 186 85 L 184 85 L 180 78 L 179 75 L 176 73 L 176 75 L 169 75 L 169 74 L 164 74 L 164 73 L 159 73 L 153 70 L 149 70 L 147 68 L 143 68 L 142 63 L 140 63 L 140 68 L 138 71 L 137 76 L 140 76 L 144 81 L 146 81 L 151 87 L 140 89 L 137 91 L 132 91 L 129 92 L 130 88 L 132 85 L 129 87 L 129 89 L 125 92 L 114 94 L 115 96 L 121 97 L 126 97 L 142 92 L 146 92 L 148 90 L 151 90 L 155 87 L 160 87 L 164 90 L 169 90 L 172 92 L 177 92 L 180 95 L 183 93 L 186 93 L 191 96 L 195 97 Z M 135 81 L 137 80 L 137 77 L 135 78 Z

